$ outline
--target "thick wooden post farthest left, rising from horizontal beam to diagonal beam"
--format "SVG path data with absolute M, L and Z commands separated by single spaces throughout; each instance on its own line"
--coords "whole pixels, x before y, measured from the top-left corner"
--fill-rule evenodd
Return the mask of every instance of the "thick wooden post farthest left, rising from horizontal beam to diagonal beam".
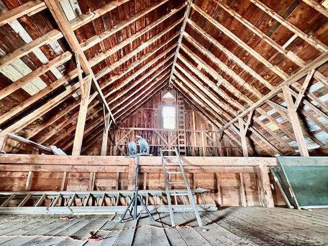
M 81 97 L 80 109 L 78 112 L 78 118 L 76 123 L 76 130 L 73 142 L 72 155 L 80 155 L 83 141 L 83 133 L 86 124 L 88 105 L 89 105 L 89 95 L 91 89 L 91 80 L 87 81 L 84 84 L 84 87 L 81 90 L 84 90 L 85 97 Z

